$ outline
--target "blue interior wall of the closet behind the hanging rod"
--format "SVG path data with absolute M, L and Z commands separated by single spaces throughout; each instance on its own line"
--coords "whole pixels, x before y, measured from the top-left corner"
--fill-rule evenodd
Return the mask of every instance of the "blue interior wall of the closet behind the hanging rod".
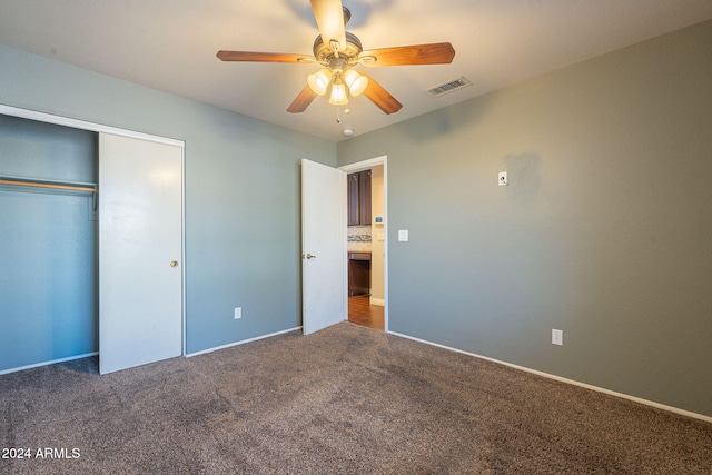
M 0 115 L 0 177 L 97 182 L 96 132 Z M 98 352 L 92 192 L 0 185 L 0 373 Z

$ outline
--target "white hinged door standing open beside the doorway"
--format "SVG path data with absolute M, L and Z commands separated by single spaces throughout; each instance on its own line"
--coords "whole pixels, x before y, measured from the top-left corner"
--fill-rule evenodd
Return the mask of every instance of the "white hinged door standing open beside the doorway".
M 347 318 L 346 175 L 301 160 L 301 321 L 308 335 Z

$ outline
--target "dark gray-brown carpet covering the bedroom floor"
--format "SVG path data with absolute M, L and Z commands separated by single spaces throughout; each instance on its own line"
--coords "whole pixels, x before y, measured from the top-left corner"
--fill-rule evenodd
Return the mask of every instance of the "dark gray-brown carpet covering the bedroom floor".
M 348 323 L 0 397 L 2 474 L 712 474 L 712 424 Z

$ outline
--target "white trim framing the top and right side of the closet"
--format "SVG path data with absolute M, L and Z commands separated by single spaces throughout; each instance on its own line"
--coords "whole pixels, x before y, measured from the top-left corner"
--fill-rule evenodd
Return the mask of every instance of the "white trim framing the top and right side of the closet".
M 69 117 L 56 116 L 52 113 L 40 112 L 37 110 L 21 109 L 18 107 L 6 106 L 0 103 L 0 113 L 4 116 L 18 117 L 21 119 L 34 120 L 37 122 L 53 123 L 57 126 L 70 127 L 73 129 L 88 130 L 91 132 L 106 132 L 113 133 L 115 136 L 129 137 L 140 140 L 147 140 L 157 144 L 165 144 L 175 147 L 179 147 L 181 151 L 180 169 L 181 169 L 181 182 L 180 182 L 180 206 L 181 206 L 181 224 L 180 224 L 180 321 L 181 321 L 181 356 L 186 356 L 186 142 L 185 140 L 171 139 L 167 137 L 154 136 L 150 133 L 137 132 L 135 130 L 121 129 L 118 127 L 106 126 L 97 122 L 89 122 L 86 120 L 72 119 Z M 98 309 L 97 309 L 98 311 Z M 99 315 L 97 313 L 97 325 Z M 99 340 L 97 339 L 97 346 Z M 100 352 L 100 349 L 99 349 Z M 99 355 L 101 356 L 101 355 Z

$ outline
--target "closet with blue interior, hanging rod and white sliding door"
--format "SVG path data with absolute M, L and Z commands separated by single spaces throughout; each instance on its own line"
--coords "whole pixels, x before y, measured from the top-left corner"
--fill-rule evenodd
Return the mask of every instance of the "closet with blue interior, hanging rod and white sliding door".
M 182 142 L 22 116 L 0 109 L 0 374 L 93 354 L 102 373 L 179 356 Z M 144 206 L 162 199 L 168 211 Z

